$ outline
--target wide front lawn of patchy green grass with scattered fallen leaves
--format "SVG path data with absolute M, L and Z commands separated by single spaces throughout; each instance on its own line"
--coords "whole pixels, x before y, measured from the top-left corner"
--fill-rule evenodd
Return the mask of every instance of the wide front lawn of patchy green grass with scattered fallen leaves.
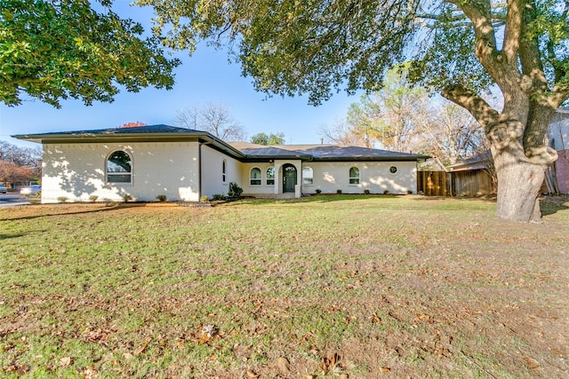
M 519 225 L 494 209 L 373 195 L 0 209 L 0 373 L 563 377 L 569 211 Z

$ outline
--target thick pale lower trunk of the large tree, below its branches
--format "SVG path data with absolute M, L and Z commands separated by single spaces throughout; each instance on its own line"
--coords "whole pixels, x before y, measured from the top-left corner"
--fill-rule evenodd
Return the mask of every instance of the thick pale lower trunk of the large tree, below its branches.
M 539 222 L 538 196 L 545 171 L 543 165 L 529 161 L 523 152 L 516 150 L 492 149 L 498 176 L 496 215 L 509 221 Z

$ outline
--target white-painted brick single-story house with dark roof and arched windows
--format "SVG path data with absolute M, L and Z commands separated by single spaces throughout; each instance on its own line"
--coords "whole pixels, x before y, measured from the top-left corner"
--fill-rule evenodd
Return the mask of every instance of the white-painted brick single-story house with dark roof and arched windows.
M 212 134 L 167 125 L 13 136 L 43 145 L 42 202 L 199 201 L 248 195 L 417 193 L 424 155 L 358 146 L 228 144 Z

